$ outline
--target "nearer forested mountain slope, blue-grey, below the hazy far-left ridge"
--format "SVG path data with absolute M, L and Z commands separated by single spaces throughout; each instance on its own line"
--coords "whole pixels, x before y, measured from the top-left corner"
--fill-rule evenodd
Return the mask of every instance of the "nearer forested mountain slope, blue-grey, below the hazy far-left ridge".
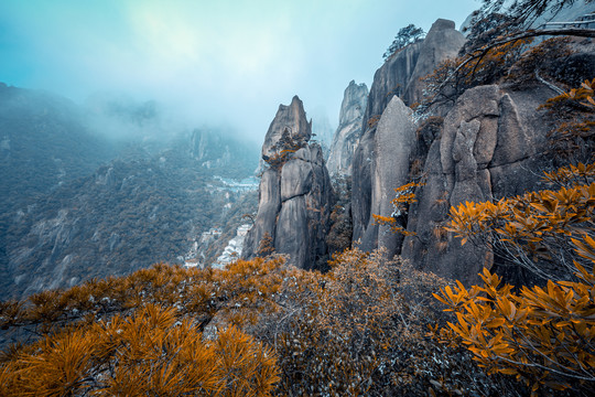
M 181 261 L 195 235 L 224 221 L 230 194 L 217 183 L 177 150 L 64 183 L 13 215 L 2 297 Z

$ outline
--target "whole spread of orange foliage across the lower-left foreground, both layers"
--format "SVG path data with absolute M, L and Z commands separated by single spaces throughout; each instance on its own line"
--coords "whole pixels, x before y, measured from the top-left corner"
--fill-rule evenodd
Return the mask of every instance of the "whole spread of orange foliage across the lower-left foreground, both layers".
M 286 272 L 279 258 L 156 265 L 4 302 L 3 329 L 41 337 L 4 352 L 0 395 L 269 395 L 274 355 L 235 325 L 278 310 Z

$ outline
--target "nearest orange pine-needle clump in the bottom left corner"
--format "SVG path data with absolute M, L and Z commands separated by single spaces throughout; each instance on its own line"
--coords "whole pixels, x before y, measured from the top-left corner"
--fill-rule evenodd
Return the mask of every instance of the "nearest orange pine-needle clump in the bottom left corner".
M 175 308 L 46 335 L 0 364 L 2 396 L 268 396 L 272 352 L 235 328 L 204 340 Z

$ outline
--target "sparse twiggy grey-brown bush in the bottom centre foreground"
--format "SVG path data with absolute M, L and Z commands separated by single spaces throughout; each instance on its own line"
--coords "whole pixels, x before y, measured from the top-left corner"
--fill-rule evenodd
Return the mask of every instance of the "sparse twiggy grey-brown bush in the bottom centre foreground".
M 346 250 L 325 275 L 295 275 L 300 292 L 258 333 L 277 353 L 275 394 L 515 395 L 510 379 L 486 376 L 464 347 L 426 336 L 442 321 L 432 292 L 445 280 L 385 255 Z

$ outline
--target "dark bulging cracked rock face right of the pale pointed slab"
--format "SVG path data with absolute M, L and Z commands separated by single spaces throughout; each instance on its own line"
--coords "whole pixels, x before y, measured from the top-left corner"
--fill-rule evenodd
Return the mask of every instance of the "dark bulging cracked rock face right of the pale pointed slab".
M 476 282 L 494 258 L 484 248 L 461 246 L 442 229 L 452 205 L 543 187 L 539 173 L 548 128 L 534 111 L 550 93 L 506 93 L 496 85 L 465 92 L 444 119 L 425 161 L 425 186 L 410 207 L 402 256 L 440 276 Z M 533 110 L 532 110 L 533 109 Z

